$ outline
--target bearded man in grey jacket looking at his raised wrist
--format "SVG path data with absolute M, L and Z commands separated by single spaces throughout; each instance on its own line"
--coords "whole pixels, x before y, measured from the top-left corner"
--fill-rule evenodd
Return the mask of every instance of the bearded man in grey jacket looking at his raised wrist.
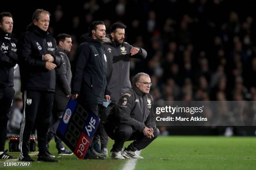
M 123 23 L 114 23 L 110 27 L 110 37 L 103 41 L 108 60 L 108 90 L 111 93 L 112 103 L 103 108 L 100 122 L 100 142 L 102 155 L 108 156 L 108 135 L 103 124 L 115 102 L 118 102 L 124 92 L 131 88 L 130 82 L 130 57 L 145 59 L 146 50 L 140 47 L 133 47 L 128 42 L 124 42 L 126 25 Z M 94 144 L 98 145 L 98 138 L 95 138 Z

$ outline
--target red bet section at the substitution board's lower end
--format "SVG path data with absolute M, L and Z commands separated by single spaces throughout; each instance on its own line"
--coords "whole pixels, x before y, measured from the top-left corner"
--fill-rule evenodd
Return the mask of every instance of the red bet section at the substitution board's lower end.
M 91 140 L 87 138 L 87 136 L 84 133 L 80 135 L 80 138 L 77 142 L 77 146 L 74 150 L 74 153 L 77 155 L 79 159 L 84 159 L 84 156 L 89 147 L 90 141 Z

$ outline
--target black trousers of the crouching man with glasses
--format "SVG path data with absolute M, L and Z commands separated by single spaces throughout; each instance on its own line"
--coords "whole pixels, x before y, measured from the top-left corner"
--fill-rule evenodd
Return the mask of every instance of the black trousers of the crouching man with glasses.
M 127 150 L 136 151 L 146 148 L 153 140 L 155 140 L 159 135 L 159 129 L 154 129 L 154 138 L 149 139 L 143 132 L 134 130 L 130 125 L 120 124 L 116 120 L 110 120 L 105 123 L 105 130 L 108 136 L 115 140 L 111 152 L 119 152 L 123 148 L 123 144 L 126 141 L 134 140 Z

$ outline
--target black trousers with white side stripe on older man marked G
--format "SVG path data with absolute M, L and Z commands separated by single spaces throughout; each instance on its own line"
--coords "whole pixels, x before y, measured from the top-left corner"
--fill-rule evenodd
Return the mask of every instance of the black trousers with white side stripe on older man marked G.
M 28 155 L 29 136 L 34 124 L 37 128 L 39 153 L 46 152 L 53 100 L 53 92 L 43 90 L 24 91 L 23 115 L 20 126 L 20 159 Z

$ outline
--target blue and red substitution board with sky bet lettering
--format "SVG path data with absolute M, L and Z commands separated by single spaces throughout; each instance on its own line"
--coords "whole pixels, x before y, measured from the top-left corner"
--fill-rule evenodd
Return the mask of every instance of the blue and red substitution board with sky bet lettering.
M 77 100 L 69 100 L 56 134 L 79 159 L 84 159 L 100 119 Z

